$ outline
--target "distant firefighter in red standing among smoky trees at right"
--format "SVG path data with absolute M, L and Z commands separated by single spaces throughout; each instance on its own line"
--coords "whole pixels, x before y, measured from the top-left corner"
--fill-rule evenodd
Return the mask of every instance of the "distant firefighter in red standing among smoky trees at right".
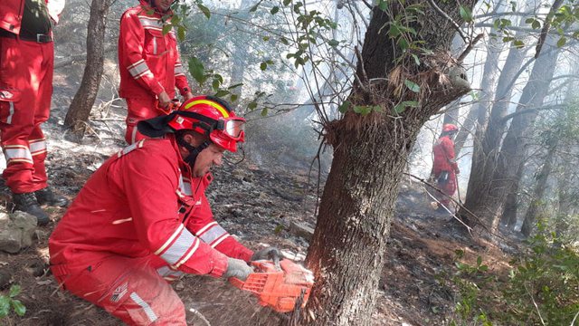
M 455 125 L 451 123 L 445 124 L 442 126 L 441 136 L 436 140 L 432 148 L 434 163 L 432 165 L 431 179 L 436 180 L 437 187 L 443 193 L 436 196 L 441 204 L 437 208 L 440 212 L 446 212 L 444 207 L 450 207 L 450 197 L 456 191 L 456 175 L 460 171 L 454 155 L 453 139 L 458 131 L 459 129 Z

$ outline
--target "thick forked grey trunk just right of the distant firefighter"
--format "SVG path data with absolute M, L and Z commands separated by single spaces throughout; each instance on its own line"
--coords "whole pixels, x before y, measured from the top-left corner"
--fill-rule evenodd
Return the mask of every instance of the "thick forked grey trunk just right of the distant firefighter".
M 553 37 L 548 38 L 548 43 L 553 46 Z M 533 70 L 529 76 L 527 85 L 519 99 L 517 111 L 527 108 L 537 108 L 546 97 L 549 81 L 555 72 L 555 63 L 558 51 L 541 53 L 536 60 Z M 509 53 L 510 55 L 510 53 Z M 515 56 L 515 54 L 513 54 Z M 518 54 L 520 55 L 520 54 Z M 506 65 L 505 69 L 514 69 Z M 511 71 L 512 72 L 512 71 Z M 503 72 L 504 73 L 504 72 Z M 510 72 L 509 72 L 510 74 Z M 502 76 L 501 76 L 502 79 Z M 498 89 L 503 88 L 502 82 L 507 82 L 509 78 L 501 81 L 499 79 Z M 509 84 L 512 81 L 508 81 Z M 505 205 L 505 200 L 512 191 L 513 180 L 517 176 L 517 168 L 523 162 L 523 152 L 525 150 L 526 139 L 522 138 L 522 132 L 527 130 L 536 117 L 536 111 L 528 114 L 521 114 L 514 118 L 508 129 L 508 134 L 500 147 L 500 140 L 507 121 L 504 120 L 508 111 L 509 94 L 498 94 L 499 101 L 496 102 L 491 112 L 489 126 L 482 141 L 482 155 L 473 158 L 473 166 L 477 169 L 471 171 L 469 180 L 469 191 L 465 200 L 465 207 L 475 216 L 482 218 L 480 221 L 489 228 L 491 233 L 498 229 L 499 214 Z M 474 162 L 477 160 L 477 163 Z M 466 209 L 460 209 L 460 216 L 473 224 L 473 217 Z M 469 219 L 470 218 L 470 219 Z

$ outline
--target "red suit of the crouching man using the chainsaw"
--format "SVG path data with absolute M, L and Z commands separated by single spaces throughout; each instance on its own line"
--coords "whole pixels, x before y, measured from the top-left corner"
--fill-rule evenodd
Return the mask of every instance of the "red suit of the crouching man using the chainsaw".
M 185 325 L 166 281 L 183 273 L 221 276 L 227 256 L 252 251 L 217 222 L 173 135 L 142 139 L 90 177 L 49 239 L 51 270 L 73 294 L 128 324 Z

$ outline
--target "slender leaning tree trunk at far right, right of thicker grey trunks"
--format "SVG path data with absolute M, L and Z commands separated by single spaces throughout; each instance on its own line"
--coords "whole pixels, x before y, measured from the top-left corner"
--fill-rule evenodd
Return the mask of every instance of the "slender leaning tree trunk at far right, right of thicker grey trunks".
M 531 204 L 528 206 L 527 214 L 525 214 L 523 225 L 521 226 L 521 233 L 527 237 L 531 235 L 531 232 L 535 227 L 536 216 L 542 206 L 541 201 L 545 196 L 547 186 L 546 180 L 551 174 L 553 157 L 555 156 L 555 149 L 557 149 L 558 142 L 559 139 L 555 138 L 553 139 L 553 142 L 548 145 L 549 148 L 546 152 L 545 163 L 543 163 L 543 167 L 541 167 L 541 170 L 539 171 L 539 176 L 536 178 L 536 186 L 535 191 L 533 191 L 533 197 L 531 198 Z

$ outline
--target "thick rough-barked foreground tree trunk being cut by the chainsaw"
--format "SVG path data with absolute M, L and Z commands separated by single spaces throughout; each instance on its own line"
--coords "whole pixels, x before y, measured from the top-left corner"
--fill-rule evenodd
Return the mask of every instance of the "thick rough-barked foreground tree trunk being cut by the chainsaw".
M 442 106 L 470 91 L 448 54 L 455 29 L 429 5 L 424 6 L 425 14 L 413 28 L 416 38 L 423 40 L 423 46 L 435 55 L 422 57 L 420 67 L 412 60 L 403 65 L 394 63 L 394 53 L 400 52 L 394 49 L 394 42 L 383 27 L 390 23 L 390 17 L 403 14 L 400 3 L 389 2 L 390 14 L 373 9 L 362 61 L 356 71 L 363 84 L 355 84 L 348 100 L 352 105 L 380 105 L 391 112 L 393 103 L 415 96 L 408 91 L 401 99 L 395 92 L 406 77 L 421 82 L 422 106 L 407 108 L 398 117 L 390 113 L 361 116 L 350 109 L 341 120 L 327 124 L 326 140 L 334 148 L 334 159 L 307 258 L 317 281 L 304 316 L 308 319 L 313 314 L 315 320 L 301 324 L 371 323 L 406 158 L 424 122 Z M 406 1 L 405 5 L 416 3 Z M 469 0 L 438 5 L 460 24 L 459 5 L 472 7 L 474 3 Z M 373 79 L 379 82 L 368 82 Z

